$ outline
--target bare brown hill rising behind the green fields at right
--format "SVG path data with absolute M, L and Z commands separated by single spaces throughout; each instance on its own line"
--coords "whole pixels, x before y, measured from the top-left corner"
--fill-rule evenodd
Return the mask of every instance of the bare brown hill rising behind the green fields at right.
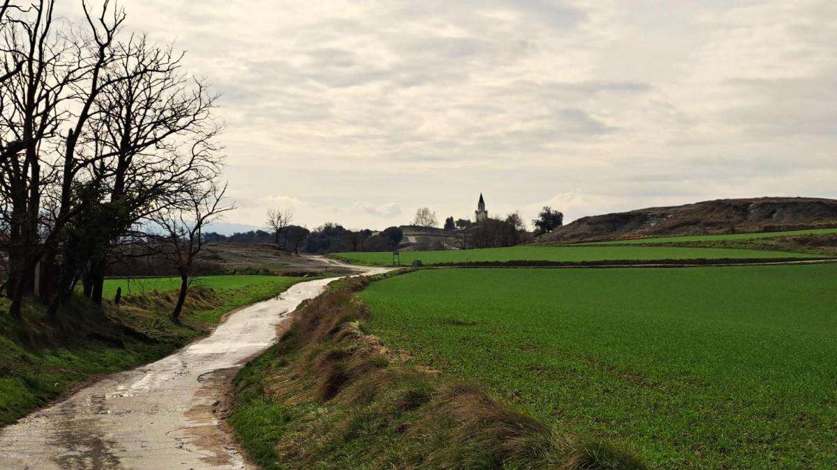
M 538 242 L 593 242 L 818 227 L 837 227 L 837 200 L 814 197 L 718 199 L 582 217 L 543 235 Z

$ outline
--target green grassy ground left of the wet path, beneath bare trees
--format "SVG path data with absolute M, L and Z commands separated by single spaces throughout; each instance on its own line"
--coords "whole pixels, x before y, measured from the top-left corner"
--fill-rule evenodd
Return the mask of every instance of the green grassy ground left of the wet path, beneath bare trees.
M 23 323 L 0 314 L 0 425 L 97 375 L 160 359 L 206 335 L 230 310 L 270 299 L 302 280 L 206 279 L 190 290 L 180 325 L 168 317 L 176 293 L 162 281 L 160 290 L 126 294 L 119 306 L 105 300 L 97 308 L 73 299 L 57 323 L 39 304 L 26 305 Z M 114 282 L 108 281 L 113 290 Z M 0 312 L 7 310 L 8 299 L 0 299 Z

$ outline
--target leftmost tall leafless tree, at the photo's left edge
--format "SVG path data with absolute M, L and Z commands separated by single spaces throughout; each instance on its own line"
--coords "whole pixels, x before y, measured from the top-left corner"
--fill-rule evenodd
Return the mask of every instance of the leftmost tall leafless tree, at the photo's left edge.
M 0 84 L 0 192 L 8 201 L 7 293 L 14 318 L 20 317 L 23 295 L 34 289 L 42 197 L 54 177 L 46 156 L 49 140 L 69 115 L 69 89 L 86 69 L 55 23 L 54 1 L 40 0 L 3 32 L 4 61 L 23 60 Z

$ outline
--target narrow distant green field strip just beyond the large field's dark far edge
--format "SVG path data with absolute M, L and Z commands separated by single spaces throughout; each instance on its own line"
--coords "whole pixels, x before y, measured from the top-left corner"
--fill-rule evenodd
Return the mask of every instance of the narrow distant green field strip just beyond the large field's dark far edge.
M 336 253 L 331 255 L 349 263 L 390 265 L 391 252 Z M 765 250 L 736 248 L 682 248 L 682 247 L 611 247 L 611 246 L 518 246 L 511 248 L 485 248 L 472 250 L 448 250 L 427 252 L 401 252 L 401 263 L 409 264 L 420 259 L 424 264 L 472 263 L 485 261 L 553 261 L 578 263 L 584 261 L 650 261 L 659 259 L 766 259 L 809 258 L 813 255 Z

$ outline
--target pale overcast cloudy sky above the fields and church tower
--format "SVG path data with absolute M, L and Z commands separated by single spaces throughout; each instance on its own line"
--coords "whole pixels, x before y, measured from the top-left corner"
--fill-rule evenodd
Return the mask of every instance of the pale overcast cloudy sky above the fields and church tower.
M 228 222 L 837 197 L 832 0 L 125 0 L 223 95 Z

